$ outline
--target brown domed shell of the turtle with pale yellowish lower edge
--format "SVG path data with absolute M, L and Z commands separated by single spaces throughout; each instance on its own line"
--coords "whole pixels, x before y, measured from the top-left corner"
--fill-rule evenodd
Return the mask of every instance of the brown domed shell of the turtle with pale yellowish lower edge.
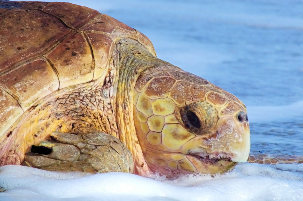
M 0 0 L 0 136 L 39 99 L 104 76 L 123 37 L 156 56 L 144 34 L 91 8 Z

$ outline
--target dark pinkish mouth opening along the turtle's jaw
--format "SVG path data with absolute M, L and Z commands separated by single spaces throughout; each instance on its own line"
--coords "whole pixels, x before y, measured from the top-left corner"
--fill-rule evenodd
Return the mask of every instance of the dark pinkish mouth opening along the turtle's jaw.
M 225 152 L 211 153 L 211 154 L 209 154 L 209 153 L 189 153 L 188 155 L 197 158 L 199 161 L 201 161 L 204 164 L 216 165 L 216 164 L 218 164 L 218 161 L 233 162 L 231 160 L 231 156 L 229 156 Z

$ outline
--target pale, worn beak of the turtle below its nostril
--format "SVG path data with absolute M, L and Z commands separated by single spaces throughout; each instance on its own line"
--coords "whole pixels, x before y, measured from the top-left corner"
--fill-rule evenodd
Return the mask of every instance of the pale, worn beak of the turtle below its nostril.
M 250 151 L 249 123 L 245 115 L 238 116 L 226 116 L 218 121 L 217 136 L 209 139 L 209 148 L 210 153 L 225 153 L 233 162 L 246 162 Z

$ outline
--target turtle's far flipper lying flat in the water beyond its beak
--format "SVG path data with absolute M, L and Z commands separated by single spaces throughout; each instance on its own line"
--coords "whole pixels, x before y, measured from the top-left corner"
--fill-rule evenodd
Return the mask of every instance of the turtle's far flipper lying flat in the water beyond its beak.
M 281 163 L 303 163 L 303 156 L 295 155 L 278 155 L 278 154 L 266 154 L 257 153 L 250 154 L 248 157 L 248 162 L 259 163 L 259 164 L 281 164 Z

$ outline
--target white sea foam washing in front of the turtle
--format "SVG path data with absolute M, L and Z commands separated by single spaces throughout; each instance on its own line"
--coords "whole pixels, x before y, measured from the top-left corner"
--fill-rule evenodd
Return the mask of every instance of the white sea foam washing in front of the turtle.
M 224 175 L 188 175 L 177 180 L 126 173 L 48 172 L 24 166 L 0 168 L 1 201 L 259 201 L 303 200 L 303 164 L 240 164 Z

